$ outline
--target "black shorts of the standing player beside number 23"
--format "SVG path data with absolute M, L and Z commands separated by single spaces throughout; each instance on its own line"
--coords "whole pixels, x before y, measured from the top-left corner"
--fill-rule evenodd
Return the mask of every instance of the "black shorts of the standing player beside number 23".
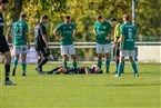
M 48 57 L 50 55 L 49 48 L 46 48 L 46 47 L 42 47 L 39 49 L 36 48 L 36 50 L 38 52 L 38 56 Z

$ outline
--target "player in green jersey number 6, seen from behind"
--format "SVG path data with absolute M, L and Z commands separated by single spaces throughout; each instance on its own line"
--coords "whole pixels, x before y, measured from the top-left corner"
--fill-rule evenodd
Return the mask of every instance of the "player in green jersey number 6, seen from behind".
M 134 77 L 139 77 L 137 65 L 133 60 L 135 56 L 134 51 L 134 39 L 137 33 L 135 26 L 129 22 L 129 16 L 123 14 L 123 24 L 121 26 L 121 37 L 120 37 L 120 62 L 118 67 L 118 73 L 114 77 L 120 77 L 122 73 L 124 57 L 129 57 L 131 66 L 134 71 Z

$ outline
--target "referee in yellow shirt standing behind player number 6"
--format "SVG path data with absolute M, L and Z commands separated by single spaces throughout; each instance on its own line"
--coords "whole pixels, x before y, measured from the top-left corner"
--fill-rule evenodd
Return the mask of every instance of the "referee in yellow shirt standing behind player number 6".
M 111 18 L 110 19 L 111 24 L 114 27 L 114 43 L 113 43 L 113 57 L 115 60 L 115 65 L 117 65 L 117 70 L 114 71 L 114 73 L 118 73 L 118 65 L 119 65 L 119 57 L 120 57 L 120 27 L 121 23 L 118 22 L 118 20 L 115 18 Z M 124 68 L 124 61 L 123 61 L 123 68 Z M 122 68 L 122 72 L 124 73 Z

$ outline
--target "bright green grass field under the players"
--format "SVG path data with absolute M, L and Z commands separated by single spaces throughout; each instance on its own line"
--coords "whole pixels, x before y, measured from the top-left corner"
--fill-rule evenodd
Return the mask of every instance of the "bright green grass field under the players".
M 161 108 L 161 65 L 138 65 L 138 78 L 130 65 L 120 78 L 113 73 L 38 75 L 34 67 L 29 65 L 28 76 L 22 77 L 19 65 L 11 77 L 17 86 L 9 87 L 3 85 L 0 65 L 0 108 Z M 47 65 L 46 70 L 52 67 Z

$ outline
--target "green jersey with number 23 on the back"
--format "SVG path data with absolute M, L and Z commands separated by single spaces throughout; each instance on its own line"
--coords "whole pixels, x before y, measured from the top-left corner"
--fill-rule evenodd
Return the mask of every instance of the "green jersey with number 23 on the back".
M 13 45 L 14 46 L 26 46 L 26 33 L 29 31 L 28 24 L 23 20 L 18 20 L 12 26 L 12 33 L 13 33 Z

